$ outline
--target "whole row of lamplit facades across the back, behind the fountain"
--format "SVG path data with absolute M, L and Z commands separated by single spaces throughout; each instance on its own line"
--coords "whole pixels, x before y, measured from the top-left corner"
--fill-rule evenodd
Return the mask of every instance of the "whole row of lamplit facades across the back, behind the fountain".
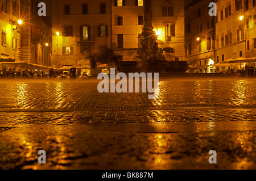
M 154 31 L 170 61 L 185 60 L 183 7 L 184 1 L 152 1 Z M 53 65 L 82 65 L 108 48 L 119 60 L 133 61 L 143 14 L 143 0 L 52 1 Z

